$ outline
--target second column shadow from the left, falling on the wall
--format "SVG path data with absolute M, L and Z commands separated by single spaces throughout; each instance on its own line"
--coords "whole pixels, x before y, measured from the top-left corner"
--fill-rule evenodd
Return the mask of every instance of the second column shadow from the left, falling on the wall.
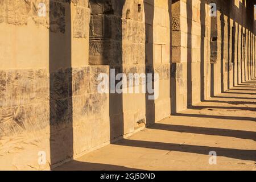
M 111 2 L 110 2 L 111 3 Z M 110 119 L 110 143 L 115 142 L 115 140 L 123 138 L 124 135 L 124 115 L 123 115 L 123 93 L 117 93 L 115 86 L 120 80 L 115 80 L 118 73 L 123 73 L 123 42 L 122 42 L 122 10 L 125 5 L 125 0 L 115 1 L 115 10 L 113 14 L 110 15 L 112 21 L 112 32 L 111 34 L 117 34 L 117 36 L 112 37 L 113 45 L 113 60 L 110 60 L 110 94 L 109 94 L 109 119 Z M 117 32 L 113 32 L 113 30 Z M 113 36 L 113 35 L 112 35 Z M 108 44 L 105 44 L 106 50 L 108 50 Z M 108 52 L 106 52 L 108 54 Z

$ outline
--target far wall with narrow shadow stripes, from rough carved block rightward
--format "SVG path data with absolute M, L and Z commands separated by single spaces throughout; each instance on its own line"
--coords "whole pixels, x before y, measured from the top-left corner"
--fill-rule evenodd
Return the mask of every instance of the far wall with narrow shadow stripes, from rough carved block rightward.
M 210 16 L 216 3 L 217 16 Z M 251 1 L 172 1 L 173 113 L 255 74 Z

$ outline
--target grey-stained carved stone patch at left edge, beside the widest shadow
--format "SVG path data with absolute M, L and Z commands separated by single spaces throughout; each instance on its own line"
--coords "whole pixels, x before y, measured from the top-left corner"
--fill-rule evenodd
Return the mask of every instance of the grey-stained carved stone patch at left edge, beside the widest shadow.
M 47 126 L 48 81 L 45 69 L 0 70 L 0 137 Z

